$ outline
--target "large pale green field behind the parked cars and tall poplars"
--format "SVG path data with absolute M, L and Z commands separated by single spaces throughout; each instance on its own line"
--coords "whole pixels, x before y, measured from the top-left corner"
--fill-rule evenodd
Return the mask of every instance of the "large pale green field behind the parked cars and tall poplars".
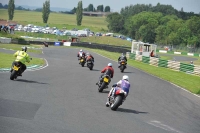
M 0 9 L 1 19 L 8 19 L 8 11 Z M 22 25 L 34 24 L 38 26 L 45 26 L 42 20 L 42 12 L 34 11 L 20 11 L 15 10 L 13 21 L 17 21 Z M 62 14 L 62 13 L 50 13 L 48 26 L 67 29 L 78 28 L 90 28 L 92 31 L 104 31 L 107 30 L 107 22 L 105 17 L 90 17 L 83 16 L 82 26 L 76 25 L 76 15 Z

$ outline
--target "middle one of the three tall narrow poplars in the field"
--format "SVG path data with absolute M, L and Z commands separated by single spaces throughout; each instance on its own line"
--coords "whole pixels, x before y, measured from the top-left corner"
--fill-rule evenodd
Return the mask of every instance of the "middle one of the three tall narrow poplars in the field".
M 43 3 L 43 9 L 42 9 L 43 23 L 47 23 L 49 14 L 50 14 L 50 0 L 46 0 Z

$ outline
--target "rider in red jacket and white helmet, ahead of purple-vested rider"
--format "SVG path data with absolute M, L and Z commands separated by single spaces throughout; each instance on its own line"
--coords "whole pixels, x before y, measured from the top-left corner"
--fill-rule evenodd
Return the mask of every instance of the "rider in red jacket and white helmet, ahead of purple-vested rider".
M 104 74 L 109 75 L 110 78 L 113 78 L 114 76 L 114 69 L 112 67 L 112 63 L 108 63 L 108 65 L 106 67 L 103 68 L 103 70 L 101 71 L 101 76 L 99 77 L 99 81 L 102 82 L 102 77 Z M 99 84 L 99 81 L 96 83 L 96 85 Z

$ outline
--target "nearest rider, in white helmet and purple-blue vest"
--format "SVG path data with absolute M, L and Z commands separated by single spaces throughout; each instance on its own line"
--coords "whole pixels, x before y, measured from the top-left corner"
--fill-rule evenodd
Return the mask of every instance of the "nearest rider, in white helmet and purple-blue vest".
M 123 99 L 123 102 L 124 102 L 126 100 L 126 97 L 128 96 L 129 89 L 130 89 L 129 77 L 127 75 L 124 75 L 120 81 L 118 81 L 116 84 L 112 86 L 112 89 L 110 90 L 108 94 L 106 107 L 110 106 L 110 103 L 109 103 L 110 96 L 114 96 L 115 92 L 119 88 L 125 91 L 125 98 Z

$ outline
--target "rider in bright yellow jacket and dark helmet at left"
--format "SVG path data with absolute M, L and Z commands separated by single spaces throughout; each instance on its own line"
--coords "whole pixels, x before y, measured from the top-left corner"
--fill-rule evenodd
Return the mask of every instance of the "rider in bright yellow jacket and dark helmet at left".
M 15 61 L 12 63 L 12 66 L 14 66 L 15 62 L 19 62 L 21 65 L 21 71 L 19 72 L 18 76 L 22 76 L 22 73 L 26 70 L 25 62 L 30 62 L 30 57 L 26 53 L 27 47 L 22 47 L 21 51 L 17 51 L 14 53 L 14 57 L 16 57 Z M 12 70 L 12 69 L 11 69 Z

